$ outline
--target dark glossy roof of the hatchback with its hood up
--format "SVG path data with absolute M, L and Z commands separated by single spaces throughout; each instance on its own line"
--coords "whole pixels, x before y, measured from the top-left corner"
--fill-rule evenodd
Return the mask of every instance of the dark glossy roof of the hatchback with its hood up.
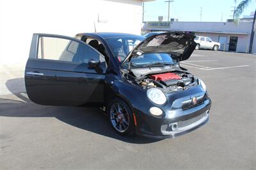
M 76 36 L 100 36 L 101 38 L 115 38 L 115 37 L 138 37 L 143 38 L 143 36 L 140 35 L 132 35 L 128 33 L 79 33 Z

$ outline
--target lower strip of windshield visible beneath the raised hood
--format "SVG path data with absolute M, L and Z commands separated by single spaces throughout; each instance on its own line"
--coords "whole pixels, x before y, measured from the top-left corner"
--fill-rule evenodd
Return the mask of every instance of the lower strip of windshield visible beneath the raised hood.
M 172 59 L 171 54 L 166 53 L 148 53 L 141 56 L 131 58 L 132 67 L 147 67 L 147 66 L 163 66 L 175 65 L 176 61 Z M 125 61 L 124 67 L 128 66 L 128 61 Z

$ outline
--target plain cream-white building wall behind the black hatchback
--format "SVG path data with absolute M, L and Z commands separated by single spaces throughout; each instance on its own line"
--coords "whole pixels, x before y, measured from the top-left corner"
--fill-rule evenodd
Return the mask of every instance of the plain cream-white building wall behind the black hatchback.
M 0 0 L 0 65 L 26 62 L 33 33 L 140 35 L 141 22 L 138 0 Z

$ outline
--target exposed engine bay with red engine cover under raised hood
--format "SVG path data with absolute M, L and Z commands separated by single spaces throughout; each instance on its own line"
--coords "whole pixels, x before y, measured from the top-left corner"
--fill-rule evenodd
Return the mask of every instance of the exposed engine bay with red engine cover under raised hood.
M 165 92 L 180 91 L 198 84 L 191 73 L 182 71 L 152 73 L 138 78 L 128 76 L 127 79 L 143 89 L 161 88 Z

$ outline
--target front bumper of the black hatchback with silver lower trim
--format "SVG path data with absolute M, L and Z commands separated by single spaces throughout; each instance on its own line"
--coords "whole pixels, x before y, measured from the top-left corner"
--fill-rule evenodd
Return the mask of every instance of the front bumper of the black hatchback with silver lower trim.
M 204 103 L 190 109 L 172 111 L 172 114 L 175 115 L 173 117 L 157 118 L 148 113 L 137 111 L 138 125 L 136 134 L 157 139 L 172 138 L 186 134 L 207 123 L 210 109 L 211 99 L 207 98 Z

